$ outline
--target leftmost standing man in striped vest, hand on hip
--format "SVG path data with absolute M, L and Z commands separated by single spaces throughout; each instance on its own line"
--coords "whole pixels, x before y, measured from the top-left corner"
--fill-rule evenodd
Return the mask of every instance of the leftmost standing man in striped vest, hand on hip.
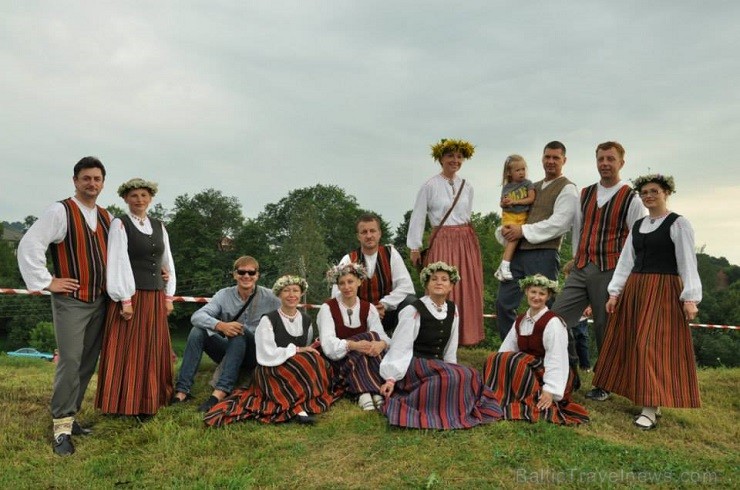
M 74 453 L 72 435 L 87 435 L 75 420 L 95 372 L 107 306 L 105 263 L 111 215 L 96 204 L 105 167 L 85 157 L 74 167 L 75 195 L 49 206 L 18 244 L 18 267 L 31 291 L 52 293 L 51 306 L 59 362 L 51 414 L 54 453 Z M 46 268 L 51 249 L 54 275 Z

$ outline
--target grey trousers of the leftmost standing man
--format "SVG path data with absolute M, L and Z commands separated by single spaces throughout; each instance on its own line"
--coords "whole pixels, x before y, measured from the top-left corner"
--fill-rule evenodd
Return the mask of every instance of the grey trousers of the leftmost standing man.
M 82 406 L 100 355 L 107 304 L 106 297 L 85 303 L 63 294 L 52 294 L 54 334 L 59 349 L 51 395 L 51 415 L 55 419 L 74 415 Z

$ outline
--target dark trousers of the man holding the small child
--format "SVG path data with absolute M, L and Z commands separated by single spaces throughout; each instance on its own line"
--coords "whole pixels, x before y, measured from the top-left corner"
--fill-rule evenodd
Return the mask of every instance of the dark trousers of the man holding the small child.
M 557 250 L 517 250 L 514 253 L 514 258 L 511 260 L 511 275 L 514 276 L 514 280 L 505 281 L 499 285 L 496 299 L 496 323 L 501 340 L 505 339 L 511 330 L 516 320 L 517 309 L 524 296 L 519 288 L 519 279 L 539 273 L 547 276 L 548 279 L 557 280 L 559 270 L 560 254 Z

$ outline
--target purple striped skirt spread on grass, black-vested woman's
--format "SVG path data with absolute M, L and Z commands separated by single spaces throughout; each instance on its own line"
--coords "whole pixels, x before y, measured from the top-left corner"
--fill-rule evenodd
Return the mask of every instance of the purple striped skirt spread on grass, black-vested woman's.
M 501 418 L 477 370 L 418 357 L 381 411 L 391 425 L 412 429 L 469 429 Z

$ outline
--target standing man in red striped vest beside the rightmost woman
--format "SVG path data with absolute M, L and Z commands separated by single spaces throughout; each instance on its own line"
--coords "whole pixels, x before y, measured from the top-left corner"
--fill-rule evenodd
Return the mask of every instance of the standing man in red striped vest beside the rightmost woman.
M 647 214 L 632 187 L 619 176 L 624 167 L 624 154 L 624 147 L 616 141 L 606 141 L 596 147 L 596 170 L 600 179 L 581 189 L 573 220 L 573 270 L 552 306 L 552 311 L 563 318 L 568 329 L 573 329 L 583 310 L 590 305 L 599 352 L 606 330 L 607 286 L 632 225 Z M 571 345 L 571 354 L 573 347 Z M 603 401 L 609 393 L 594 387 L 586 397 Z

